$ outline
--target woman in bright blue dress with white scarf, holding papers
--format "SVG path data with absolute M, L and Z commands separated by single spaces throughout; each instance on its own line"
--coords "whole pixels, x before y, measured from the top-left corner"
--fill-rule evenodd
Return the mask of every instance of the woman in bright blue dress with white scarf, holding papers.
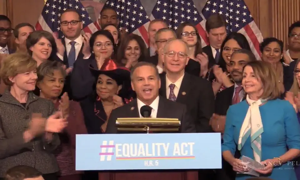
M 222 155 L 237 180 L 245 180 L 252 171 L 274 180 L 297 180 L 292 161 L 300 154 L 300 125 L 294 107 L 280 100 L 280 88 L 274 69 L 263 61 L 250 62 L 243 69 L 242 86 L 246 100 L 229 107 L 223 135 Z M 261 162 L 264 167 L 245 166 L 234 158 L 242 156 Z

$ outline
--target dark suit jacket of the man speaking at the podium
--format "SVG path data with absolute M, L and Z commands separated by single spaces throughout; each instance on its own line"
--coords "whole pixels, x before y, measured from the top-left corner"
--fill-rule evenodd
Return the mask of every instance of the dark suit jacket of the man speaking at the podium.
M 140 117 L 137 99 L 114 109 L 108 119 L 106 133 L 117 134 L 116 120 L 125 117 Z M 196 132 L 194 120 L 189 116 L 186 105 L 159 97 L 157 118 L 177 118 L 181 122 L 180 132 Z

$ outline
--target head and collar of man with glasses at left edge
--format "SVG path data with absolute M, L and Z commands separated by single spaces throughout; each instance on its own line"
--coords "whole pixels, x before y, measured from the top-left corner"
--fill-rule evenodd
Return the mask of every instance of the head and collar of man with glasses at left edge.
M 5 15 L 0 15 L 0 54 L 12 54 L 8 42 L 12 35 L 12 23 Z

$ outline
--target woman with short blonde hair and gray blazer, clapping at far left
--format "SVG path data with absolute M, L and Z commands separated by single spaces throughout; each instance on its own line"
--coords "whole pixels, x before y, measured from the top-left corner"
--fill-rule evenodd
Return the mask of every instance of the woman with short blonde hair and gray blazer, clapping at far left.
M 67 125 L 50 100 L 32 93 L 37 62 L 17 52 L 2 61 L 0 75 L 8 89 L 0 97 L 0 177 L 11 167 L 26 164 L 43 173 L 45 180 L 57 179 L 53 151 L 60 144 L 59 132 Z M 47 120 L 46 120 L 47 118 Z

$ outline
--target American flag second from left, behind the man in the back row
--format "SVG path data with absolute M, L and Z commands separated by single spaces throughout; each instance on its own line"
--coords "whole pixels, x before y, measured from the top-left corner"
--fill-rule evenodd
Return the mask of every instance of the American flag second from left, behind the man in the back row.
M 119 28 L 125 28 L 127 33 L 134 33 L 144 39 L 149 45 L 148 26 L 150 19 L 140 0 L 107 0 L 104 7 L 114 8 L 120 20 Z

